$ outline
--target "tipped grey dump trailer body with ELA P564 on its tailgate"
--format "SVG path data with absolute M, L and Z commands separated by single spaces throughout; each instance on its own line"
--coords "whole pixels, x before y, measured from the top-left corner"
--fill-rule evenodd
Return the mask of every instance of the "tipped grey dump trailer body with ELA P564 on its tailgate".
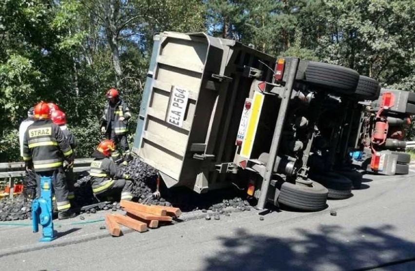
M 221 165 L 233 161 L 252 77 L 271 81 L 273 71 L 263 63 L 273 67 L 276 59 L 204 33 L 166 32 L 154 44 L 135 151 L 160 171 L 168 187 L 204 192 L 226 185 L 226 174 L 218 178 L 219 171 L 231 170 Z

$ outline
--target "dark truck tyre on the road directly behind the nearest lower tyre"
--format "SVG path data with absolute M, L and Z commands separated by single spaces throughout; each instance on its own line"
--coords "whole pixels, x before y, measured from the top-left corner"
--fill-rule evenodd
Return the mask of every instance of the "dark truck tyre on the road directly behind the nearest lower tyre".
M 352 181 L 340 174 L 325 172 L 313 174 L 310 179 L 327 187 L 329 199 L 342 200 L 352 196 Z

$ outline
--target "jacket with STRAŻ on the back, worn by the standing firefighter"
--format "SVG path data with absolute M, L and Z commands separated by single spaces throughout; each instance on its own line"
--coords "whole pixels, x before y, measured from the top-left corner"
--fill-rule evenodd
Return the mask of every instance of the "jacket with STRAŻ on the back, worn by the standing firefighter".
M 59 126 L 50 119 L 41 119 L 27 127 L 23 139 L 26 164 L 35 171 L 49 171 L 62 167 L 63 159 L 73 161 L 73 152 Z

